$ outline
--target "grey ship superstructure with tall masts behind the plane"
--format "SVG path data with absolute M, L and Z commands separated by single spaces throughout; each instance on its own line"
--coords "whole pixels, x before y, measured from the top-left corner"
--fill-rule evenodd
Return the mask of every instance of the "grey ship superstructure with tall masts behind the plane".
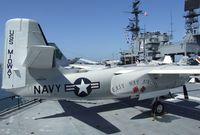
M 127 31 L 131 33 L 130 48 L 128 51 L 121 52 L 123 64 L 132 64 L 137 61 L 149 62 L 157 60 L 165 55 L 170 55 L 175 61 L 176 55 L 194 56 L 200 55 L 200 32 L 198 9 L 200 0 L 185 0 L 185 29 L 186 35 L 178 43 L 172 43 L 171 33 L 141 32 L 139 26 L 139 15 L 145 14 L 140 10 L 140 0 L 133 1 L 132 17 L 129 19 Z

